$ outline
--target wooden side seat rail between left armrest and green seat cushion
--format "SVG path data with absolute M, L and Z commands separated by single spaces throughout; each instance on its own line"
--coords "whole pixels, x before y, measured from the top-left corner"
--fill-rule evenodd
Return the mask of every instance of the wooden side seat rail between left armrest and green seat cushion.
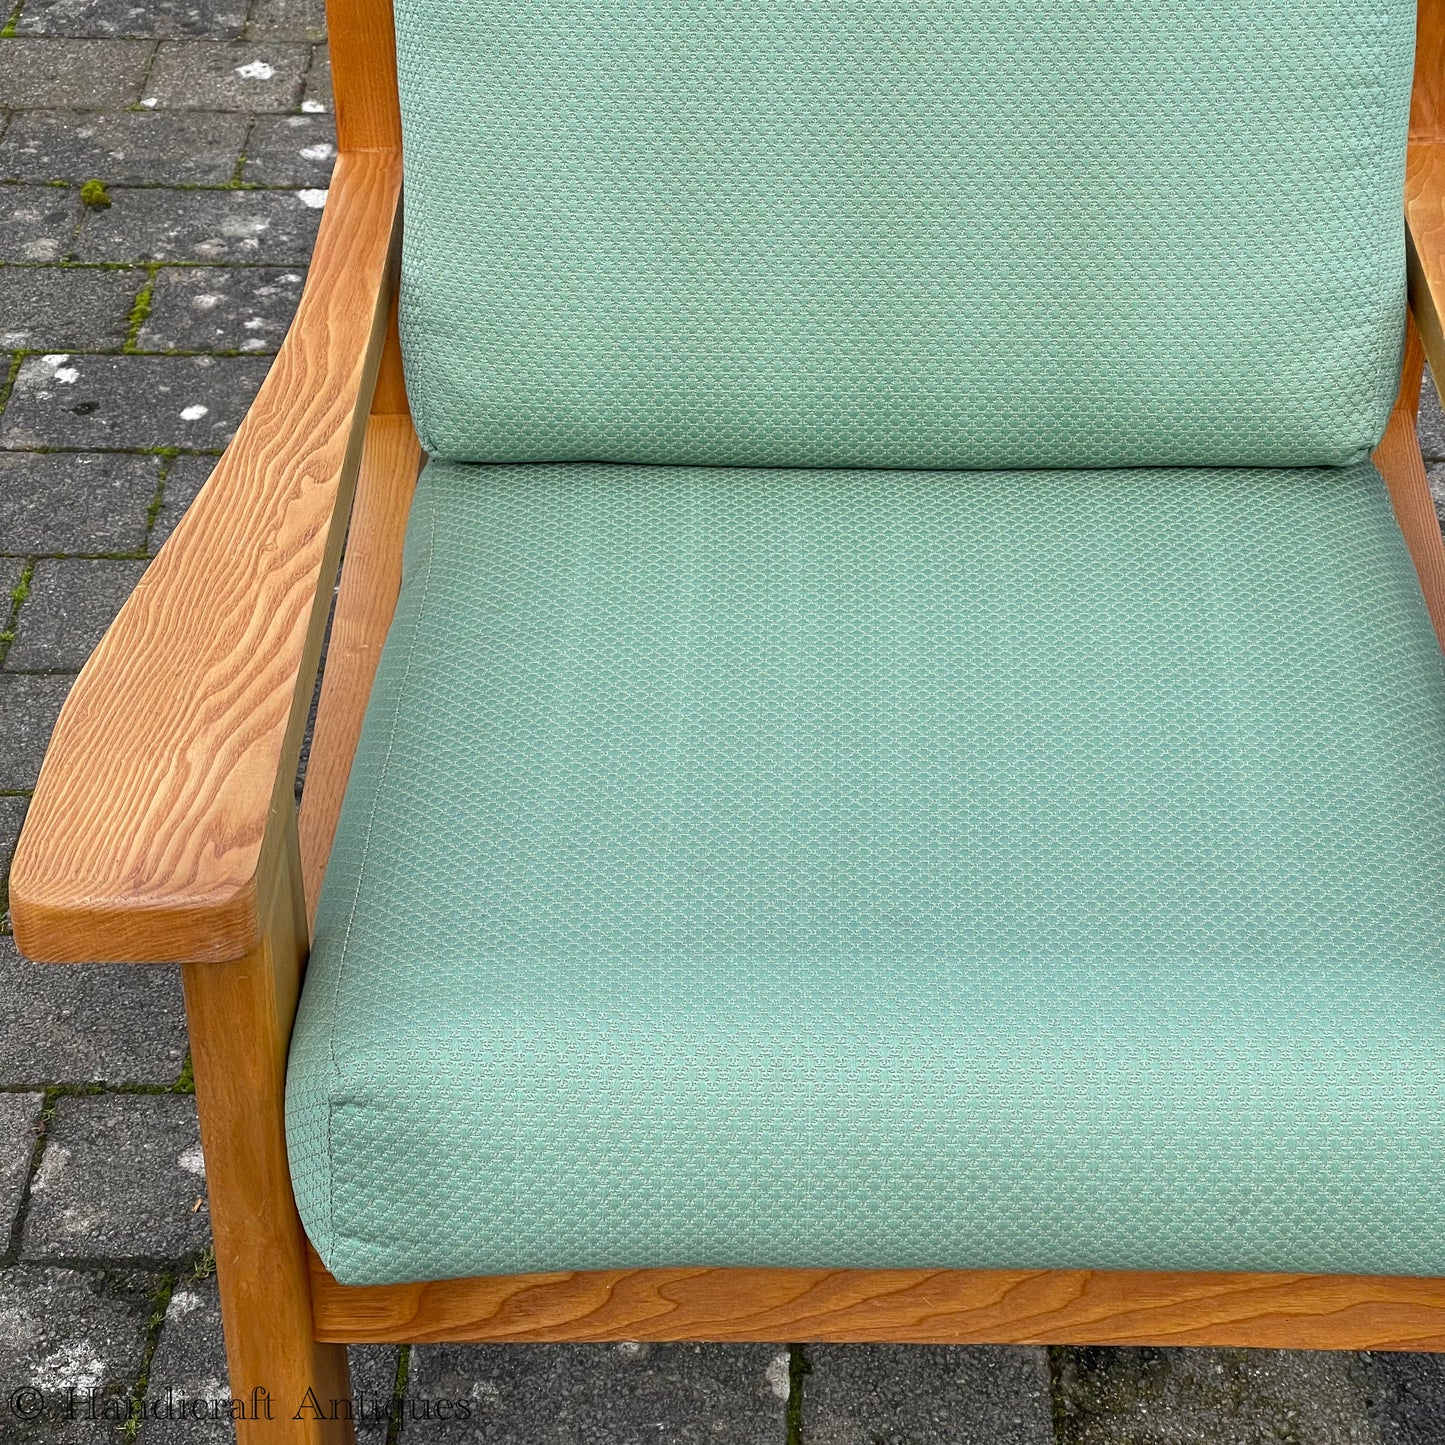
M 361 736 L 381 644 L 396 610 L 396 594 L 402 585 L 402 542 L 420 464 L 422 447 L 410 416 L 373 415 L 367 422 L 347 559 L 331 623 L 311 764 L 301 802 L 301 866 L 308 923 L 316 918 L 316 897 L 327 858 L 331 857 L 351 759 Z

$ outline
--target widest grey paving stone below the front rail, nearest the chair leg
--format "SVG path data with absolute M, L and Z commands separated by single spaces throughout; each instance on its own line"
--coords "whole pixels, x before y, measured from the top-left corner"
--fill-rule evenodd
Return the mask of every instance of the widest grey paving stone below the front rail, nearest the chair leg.
M 772 1345 L 416 1345 L 407 1445 L 779 1445 L 788 1354 Z

